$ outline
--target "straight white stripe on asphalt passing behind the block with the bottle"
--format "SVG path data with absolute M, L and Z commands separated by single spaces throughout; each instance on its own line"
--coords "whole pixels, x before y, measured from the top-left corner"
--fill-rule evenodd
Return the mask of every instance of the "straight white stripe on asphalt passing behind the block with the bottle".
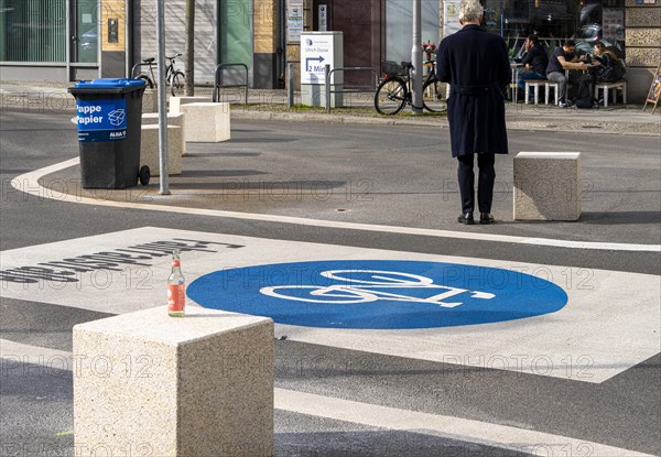
M 0 358 L 2 359 L 0 360 L 1 369 L 4 373 L 13 369 L 20 369 L 18 362 L 37 364 L 47 370 L 64 369 L 73 371 L 74 369 L 72 352 L 22 345 L 7 339 L 0 339 Z M 68 360 L 68 363 L 63 363 L 63 360 Z M 47 371 L 30 370 L 24 373 L 28 377 L 44 376 L 47 374 Z M 626 455 L 627 457 L 650 457 L 648 454 L 561 435 L 448 415 L 381 406 L 289 389 L 274 389 L 274 407 L 299 414 L 451 438 L 528 453 L 534 456 L 589 455 L 620 457 Z

